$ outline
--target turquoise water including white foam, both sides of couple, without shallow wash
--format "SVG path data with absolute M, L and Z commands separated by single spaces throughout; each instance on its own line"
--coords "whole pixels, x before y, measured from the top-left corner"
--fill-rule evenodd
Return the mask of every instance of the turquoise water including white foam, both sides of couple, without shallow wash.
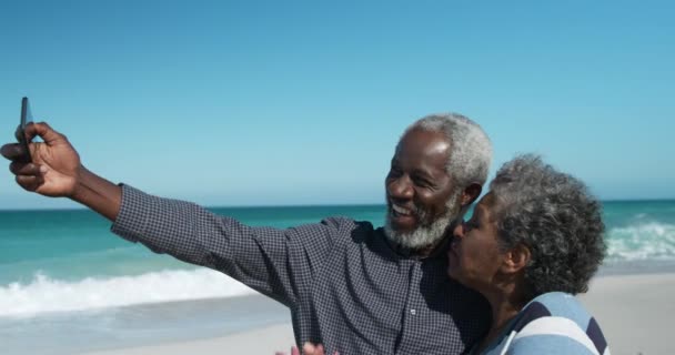
M 211 210 L 250 225 L 275 227 L 330 215 L 382 225 L 384 216 L 384 205 Z M 604 216 L 606 264 L 675 262 L 675 201 L 605 202 Z M 218 273 L 153 254 L 109 229 L 107 220 L 88 210 L 0 211 L 0 316 L 250 292 Z M 185 292 L 185 284 L 194 290 Z M 112 290 L 119 295 L 110 295 Z

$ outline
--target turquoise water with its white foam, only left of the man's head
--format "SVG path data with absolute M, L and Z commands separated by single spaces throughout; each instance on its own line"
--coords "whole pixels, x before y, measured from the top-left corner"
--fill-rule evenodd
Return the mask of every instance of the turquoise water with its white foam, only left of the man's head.
M 211 210 L 275 227 L 330 215 L 380 225 L 384 214 L 383 205 Z M 115 236 L 110 222 L 88 210 L 0 211 L 0 317 L 250 293 L 218 272 Z

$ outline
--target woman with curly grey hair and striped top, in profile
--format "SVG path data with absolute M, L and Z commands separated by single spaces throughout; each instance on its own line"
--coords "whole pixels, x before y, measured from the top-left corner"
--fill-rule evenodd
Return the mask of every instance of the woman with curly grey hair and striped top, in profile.
M 454 231 L 451 277 L 492 306 L 472 354 L 609 354 L 586 292 L 605 251 L 601 205 L 582 182 L 532 155 L 506 163 Z

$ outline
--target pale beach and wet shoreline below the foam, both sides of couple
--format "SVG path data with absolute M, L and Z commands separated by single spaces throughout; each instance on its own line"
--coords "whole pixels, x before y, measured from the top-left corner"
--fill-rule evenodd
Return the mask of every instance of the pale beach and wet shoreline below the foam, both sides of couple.
M 600 323 L 614 355 L 675 353 L 668 341 L 675 316 L 672 265 L 605 265 L 591 281 L 588 293 L 578 296 Z M 223 349 L 274 354 L 289 352 L 294 344 L 290 320 L 282 304 L 250 294 L 0 317 L 0 344 L 3 354 L 22 355 L 208 355 Z

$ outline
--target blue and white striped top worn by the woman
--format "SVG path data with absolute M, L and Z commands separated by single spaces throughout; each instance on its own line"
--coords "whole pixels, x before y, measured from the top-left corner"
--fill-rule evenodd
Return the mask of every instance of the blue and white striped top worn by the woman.
M 551 292 L 525 305 L 483 354 L 609 355 L 609 347 L 597 322 L 576 297 Z

